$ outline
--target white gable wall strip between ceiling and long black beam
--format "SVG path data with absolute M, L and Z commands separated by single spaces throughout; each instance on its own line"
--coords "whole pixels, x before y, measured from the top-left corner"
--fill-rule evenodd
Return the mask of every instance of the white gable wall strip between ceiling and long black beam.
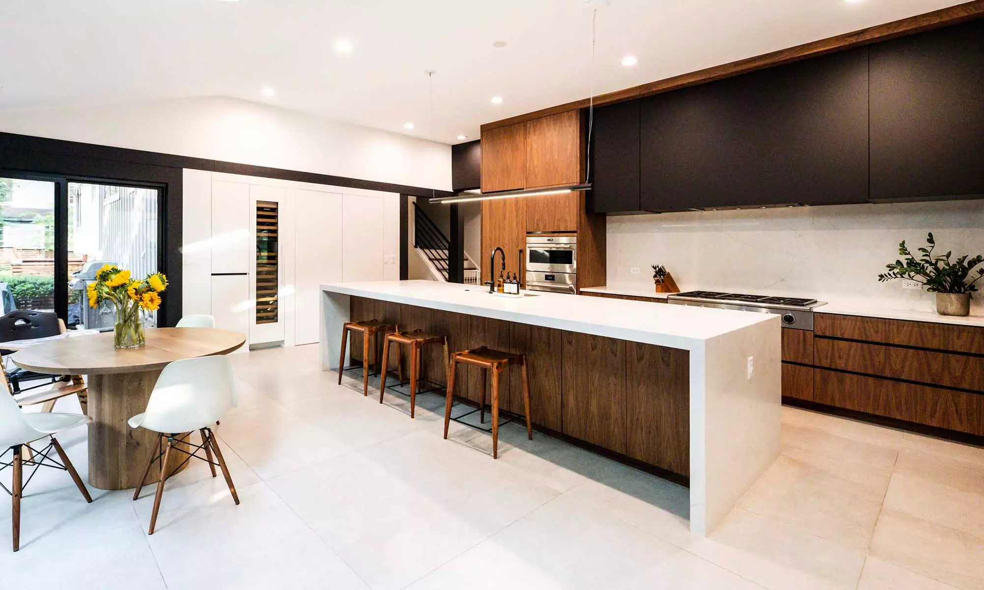
M 0 111 L 0 131 L 451 190 L 451 147 L 221 96 Z

